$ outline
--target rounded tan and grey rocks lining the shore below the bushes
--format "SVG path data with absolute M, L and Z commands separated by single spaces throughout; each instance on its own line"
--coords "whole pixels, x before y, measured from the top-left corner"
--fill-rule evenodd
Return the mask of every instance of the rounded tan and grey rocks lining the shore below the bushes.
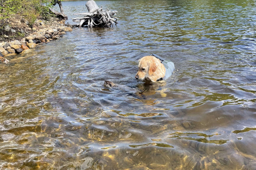
M 27 54 L 32 52 L 31 48 L 38 45 L 49 43 L 52 40 L 57 40 L 66 34 L 67 31 L 73 31 L 72 25 L 65 25 L 65 20 L 52 19 L 51 21 L 37 20 L 32 28 L 26 27 L 28 30 L 26 37 L 21 40 L 8 40 L 0 42 L 0 62 L 8 63 L 9 57 L 16 54 Z M 17 27 L 16 27 L 17 28 Z M 6 31 L 11 31 L 12 28 L 5 28 Z M 24 28 L 25 29 L 25 28 Z M 12 31 L 15 29 L 12 29 Z

